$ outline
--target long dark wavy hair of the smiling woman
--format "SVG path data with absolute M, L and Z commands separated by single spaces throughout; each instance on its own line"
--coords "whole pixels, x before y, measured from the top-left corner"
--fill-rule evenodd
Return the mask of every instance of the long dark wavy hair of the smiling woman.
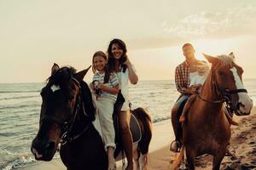
M 119 63 L 120 65 L 123 67 L 123 69 L 125 70 L 126 69 L 126 65 L 124 65 L 123 63 L 126 61 L 127 59 L 127 49 L 126 49 L 126 45 L 125 45 L 125 42 L 123 42 L 122 40 L 118 39 L 118 38 L 115 38 L 113 39 L 111 42 L 109 42 L 109 45 L 108 45 L 108 67 L 110 69 L 110 71 L 116 71 L 115 70 L 115 59 L 113 57 L 113 54 L 112 54 L 112 46 L 113 44 L 118 44 L 119 45 L 119 48 L 121 48 L 123 50 L 123 54 L 121 56 L 121 58 L 119 59 Z

